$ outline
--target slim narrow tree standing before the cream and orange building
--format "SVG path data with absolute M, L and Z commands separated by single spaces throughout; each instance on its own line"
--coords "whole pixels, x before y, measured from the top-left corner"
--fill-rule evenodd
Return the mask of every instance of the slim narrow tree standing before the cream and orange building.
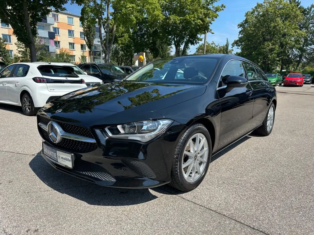
M 81 15 L 82 16 L 80 17 L 80 21 L 82 22 L 83 26 L 84 40 L 89 50 L 89 61 L 92 61 L 91 52 L 93 50 L 94 39 L 96 35 L 96 19 L 93 18 L 93 15 L 90 13 L 90 8 L 85 5 L 81 10 Z

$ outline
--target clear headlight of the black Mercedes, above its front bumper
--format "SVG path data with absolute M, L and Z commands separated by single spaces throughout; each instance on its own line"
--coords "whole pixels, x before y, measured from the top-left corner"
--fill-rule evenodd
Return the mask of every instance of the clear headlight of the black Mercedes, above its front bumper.
M 110 126 L 105 128 L 105 131 L 111 138 L 148 142 L 161 134 L 172 122 L 169 119 L 147 120 Z

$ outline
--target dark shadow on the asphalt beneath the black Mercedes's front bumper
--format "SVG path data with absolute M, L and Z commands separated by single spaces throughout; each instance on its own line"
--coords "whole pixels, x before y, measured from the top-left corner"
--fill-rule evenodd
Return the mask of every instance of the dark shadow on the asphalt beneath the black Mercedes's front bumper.
M 51 189 L 90 205 L 127 206 L 152 201 L 157 196 L 148 189 L 118 189 L 102 187 L 52 168 L 40 154 L 29 163 L 35 175 Z

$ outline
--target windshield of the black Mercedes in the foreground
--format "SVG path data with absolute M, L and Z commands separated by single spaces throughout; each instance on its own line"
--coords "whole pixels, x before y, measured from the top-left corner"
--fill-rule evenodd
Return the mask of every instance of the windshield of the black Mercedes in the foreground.
M 127 77 L 126 81 L 204 84 L 216 67 L 214 58 L 166 58 L 155 60 Z

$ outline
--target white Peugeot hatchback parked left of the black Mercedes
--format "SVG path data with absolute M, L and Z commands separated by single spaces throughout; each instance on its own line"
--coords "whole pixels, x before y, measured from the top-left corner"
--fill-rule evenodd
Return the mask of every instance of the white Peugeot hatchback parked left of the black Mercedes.
M 0 103 L 21 106 L 28 116 L 49 101 L 82 88 L 86 88 L 84 79 L 70 66 L 16 63 L 0 73 Z

